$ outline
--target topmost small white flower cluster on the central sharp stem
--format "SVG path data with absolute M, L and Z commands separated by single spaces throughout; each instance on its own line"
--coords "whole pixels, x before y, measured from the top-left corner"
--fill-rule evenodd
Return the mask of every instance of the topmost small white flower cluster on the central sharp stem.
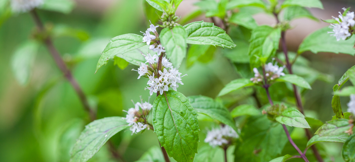
M 150 21 L 149 21 L 150 22 Z M 146 33 L 143 33 L 143 42 L 146 42 L 147 45 L 149 45 L 149 50 L 153 50 L 154 52 L 157 52 L 158 55 L 160 53 L 165 52 L 164 47 L 160 44 L 159 41 L 159 34 L 157 32 L 157 27 L 159 25 L 154 26 L 152 23 L 149 25 L 149 28 L 146 30 Z M 151 34 L 153 32 L 153 34 Z

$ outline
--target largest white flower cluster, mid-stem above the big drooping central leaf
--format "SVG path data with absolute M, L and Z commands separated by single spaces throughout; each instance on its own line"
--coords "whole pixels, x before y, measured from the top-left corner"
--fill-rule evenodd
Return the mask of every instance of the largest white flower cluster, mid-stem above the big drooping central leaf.
M 158 55 L 154 54 L 153 56 L 148 53 L 144 55 L 147 62 L 141 63 L 138 68 L 138 79 L 141 76 L 148 77 L 149 81 L 147 83 L 147 88 L 149 90 L 149 94 L 152 96 L 153 92 L 157 93 L 159 91 L 160 94 L 163 94 L 164 91 L 168 91 L 169 87 L 173 88 L 176 91 L 176 88 L 179 87 L 178 83 L 183 85 L 181 82 L 181 73 L 179 70 L 173 67 L 173 64 L 169 62 L 166 57 L 162 58 L 162 68 L 163 71 L 157 70 L 158 67 Z M 147 65 L 148 63 L 149 65 Z M 132 69 L 134 70 L 134 69 Z M 185 75 L 184 75 L 185 76 Z

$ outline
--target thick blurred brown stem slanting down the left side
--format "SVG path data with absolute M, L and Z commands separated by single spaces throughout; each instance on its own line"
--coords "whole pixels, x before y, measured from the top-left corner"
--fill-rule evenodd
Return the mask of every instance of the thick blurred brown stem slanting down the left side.
M 32 10 L 31 15 L 33 17 L 35 24 L 37 25 L 38 31 L 45 32 L 44 25 L 43 25 L 42 21 L 40 20 L 37 12 L 35 10 Z M 90 120 L 94 121 L 96 119 L 96 112 L 90 108 L 88 100 L 87 100 L 83 90 L 81 89 L 79 83 L 75 80 L 75 78 L 71 74 L 71 71 L 67 68 L 64 60 L 61 58 L 58 50 L 56 50 L 56 48 L 54 47 L 53 42 L 49 36 L 44 39 L 44 44 L 48 48 L 48 51 L 51 53 L 58 68 L 62 71 L 62 73 L 64 74 L 66 79 L 70 82 L 72 87 L 75 89 L 75 92 L 79 96 L 80 101 L 81 101 L 82 105 L 84 106 L 84 110 L 86 110 L 89 113 Z M 116 158 L 117 160 L 121 160 L 122 162 L 125 162 L 125 160 L 120 156 L 119 152 L 115 149 L 113 143 L 111 141 L 109 141 L 108 144 L 109 144 L 109 149 L 111 151 L 112 156 L 114 158 Z

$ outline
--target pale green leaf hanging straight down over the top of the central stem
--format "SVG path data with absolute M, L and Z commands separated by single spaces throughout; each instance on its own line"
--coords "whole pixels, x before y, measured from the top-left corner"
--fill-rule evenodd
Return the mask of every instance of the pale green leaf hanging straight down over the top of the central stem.
M 182 59 L 186 56 L 186 31 L 181 26 L 173 29 L 164 28 L 160 32 L 160 42 L 165 47 L 166 56 L 173 63 L 174 67 L 179 67 Z

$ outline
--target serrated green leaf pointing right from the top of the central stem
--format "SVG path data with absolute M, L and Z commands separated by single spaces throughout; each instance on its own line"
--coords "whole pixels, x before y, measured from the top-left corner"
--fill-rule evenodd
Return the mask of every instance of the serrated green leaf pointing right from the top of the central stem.
M 184 26 L 187 33 L 187 43 L 213 45 L 220 47 L 235 47 L 232 39 L 213 23 L 203 21 L 193 22 Z

